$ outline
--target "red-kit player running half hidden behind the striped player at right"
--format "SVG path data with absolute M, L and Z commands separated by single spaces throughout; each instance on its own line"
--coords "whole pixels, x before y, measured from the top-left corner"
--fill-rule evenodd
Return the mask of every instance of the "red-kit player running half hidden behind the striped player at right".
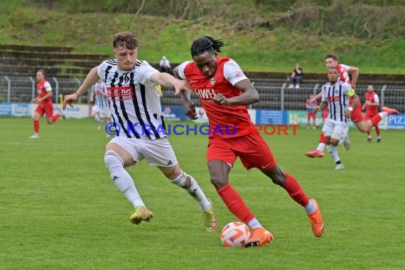
M 325 66 L 326 68 L 337 67 L 339 72 L 339 80 L 346 82 L 352 87 L 353 90 L 356 90 L 357 78 L 359 77 L 359 69 L 349 65 L 339 64 L 339 58 L 337 55 L 328 54 L 325 55 Z M 350 81 L 349 73 L 352 75 L 352 81 Z M 315 99 L 320 98 L 321 93 L 315 96 Z M 352 104 L 352 98 L 350 98 L 350 105 Z M 390 114 L 399 114 L 396 109 L 390 109 L 389 107 L 383 107 L 382 112 L 374 115 L 371 119 L 364 119 L 362 115 L 362 105 L 360 102 L 357 103 L 356 107 L 353 108 L 350 119 L 355 123 L 357 129 L 362 133 L 367 133 L 372 126 L 377 125 L 384 117 L 389 116 Z M 348 134 L 344 138 L 345 148 L 350 148 L 350 141 Z M 306 152 L 306 156 L 311 158 L 321 158 L 323 157 L 323 149 L 325 148 L 325 135 L 323 132 L 320 134 L 319 145 L 313 151 Z

